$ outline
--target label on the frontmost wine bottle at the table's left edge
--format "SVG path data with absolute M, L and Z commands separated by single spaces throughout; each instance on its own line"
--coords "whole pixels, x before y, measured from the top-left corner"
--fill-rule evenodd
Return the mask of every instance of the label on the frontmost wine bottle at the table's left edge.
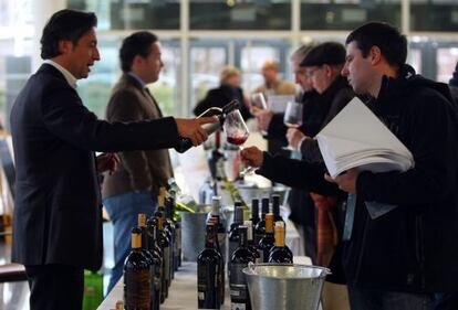
M 149 309 L 149 269 L 124 272 L 124 301 L 126 309 Z

